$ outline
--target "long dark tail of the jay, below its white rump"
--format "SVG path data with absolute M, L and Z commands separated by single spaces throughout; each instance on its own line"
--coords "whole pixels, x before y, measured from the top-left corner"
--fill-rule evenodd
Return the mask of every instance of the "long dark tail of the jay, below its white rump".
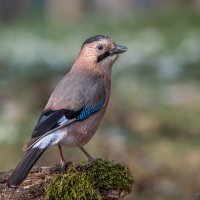
M 32 148 L 22 158 L 8 180 L 8 187 L 18 187 L 46 149 Z

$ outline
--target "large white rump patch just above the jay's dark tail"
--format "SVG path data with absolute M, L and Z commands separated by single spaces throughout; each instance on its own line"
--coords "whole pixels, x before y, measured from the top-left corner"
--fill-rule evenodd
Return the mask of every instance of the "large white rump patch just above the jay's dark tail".
M 64 131 L 56 130 L 51 134 L 41 138 L 34 145 L 33 148 L 45 149 L 47 147 L 58 144 L 64 137 Z

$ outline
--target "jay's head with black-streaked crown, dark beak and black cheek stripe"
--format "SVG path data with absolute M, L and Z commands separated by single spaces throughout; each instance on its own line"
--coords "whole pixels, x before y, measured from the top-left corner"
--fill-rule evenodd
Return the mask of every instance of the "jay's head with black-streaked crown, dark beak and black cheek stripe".
M 117 45 L 110 37 L 95 35 L 88 38 L 82 45 L 78 60 L 97 72 L 111 72 L 113 63 L 120 53 L 127 50 Z

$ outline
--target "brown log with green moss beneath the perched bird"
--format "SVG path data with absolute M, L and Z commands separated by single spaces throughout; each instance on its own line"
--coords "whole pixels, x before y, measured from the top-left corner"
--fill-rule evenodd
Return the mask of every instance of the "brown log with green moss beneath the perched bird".
M 17 189 L 7 187 L 12 170 L 0 172 L 0 200 L 117 200 L 133 189 L 127 166 L 105 160 L 70 166 L 34 167 Z

